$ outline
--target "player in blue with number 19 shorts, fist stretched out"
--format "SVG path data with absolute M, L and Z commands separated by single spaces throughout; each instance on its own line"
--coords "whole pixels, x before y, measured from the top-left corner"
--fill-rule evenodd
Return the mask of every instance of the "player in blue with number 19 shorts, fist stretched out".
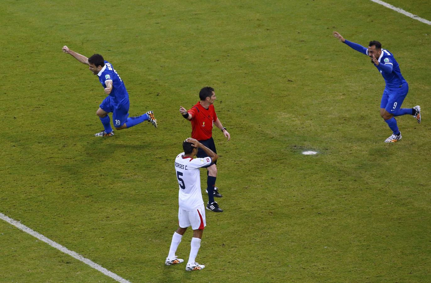
M 95 136 L 103 137 L 114 135 L 108 116 L 109 112 L 112 112 L 112 120 L 117 130 L 130 128 L 144 121 L 150 122 L 157 128 L 157 120 L 154 117 L 153 111 L 148 111 L 141 116 L 129 117 L 130 102 L 124 82 L 114 67 L 112 67 L 111 63 L 103 60 L 102 55 L 94 54 L 90 58 L 87 58 L 84 55 L 70 50 L 67 46 L 63 46 L 62 49 L 64 53 L 68 53 L 79 62 L 88 65 L 88 69 L 99 77 L 99 81 L 105 89 L 105 93 L 108 94 L 96 111 L 96 115 L 99 116 L 104 129 L 95 134 Z

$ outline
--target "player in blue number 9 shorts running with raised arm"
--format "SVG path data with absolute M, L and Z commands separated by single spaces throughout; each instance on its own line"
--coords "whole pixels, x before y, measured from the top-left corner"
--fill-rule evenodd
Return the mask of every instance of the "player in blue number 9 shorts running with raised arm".
M 337 31 L 334 31 L 332 35 L 354 50 L 369 56 L 371 63 L 376 66 L 383 76 L 386 86 L 381 97 L 380 116 L 393 132 L 384 142 L 399 141 L 401 132 L 394 117 L 409 114 L 414 116 L 418 123 L 421 123 L 421 107 L 419 105 L 413 108 L 401 108 L 401 104 L 406 98 L 407 92 L 409 92 L 409 84 L 401 75 L 400 65 L 398 65 L 392 53 L 381 48 L 381 43 L 378 41 L 370 41 L 367 48 L 344 39 Z

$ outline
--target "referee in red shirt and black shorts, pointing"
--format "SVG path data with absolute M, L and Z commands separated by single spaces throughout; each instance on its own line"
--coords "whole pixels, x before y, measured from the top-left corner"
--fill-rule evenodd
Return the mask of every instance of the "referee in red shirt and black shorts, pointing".
M 220 122 L 220 119 L 218 119 L 215 113 L 214 101 L 216 97 L 214 88 L 209 86 L 202 88 L 199 92 L 199 99 L 200 101 L 188 111 L 180 106 L 180 113 L 185 119 L 191 121 L 191 137 L 197 139 L 201 144 L 217 153 L 214 140 L 212 139 L 212 125 L 214 124 L 217 128 L 221 129 L 225 137 L 228 138 L 228 141 L 231 139 L 231 135 L 226 128 L 223 127 L 222 122 Z M 206 157 L 206 153 L 199 148 L 196 156 Z M 206 179 L 208 204 L 206 204 L 206 209 L 214 212 L 223 212 L 223 210 L 219 208 L 219 204 L 214 201 L 214 197 L 222 197 L 219 193 L 219 188 L 215 186 L 215 179 L 217 178 L 216 163 L 217 161 L 206 167 L 206 169 L 208 169 L 208 177 Z

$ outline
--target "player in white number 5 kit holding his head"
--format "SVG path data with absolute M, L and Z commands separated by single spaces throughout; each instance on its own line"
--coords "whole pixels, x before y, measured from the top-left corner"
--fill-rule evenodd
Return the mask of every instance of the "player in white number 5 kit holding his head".
M 195 158 L 197 149 L 201 148 L 208 155 L 207 157 Z M 191 226 L 193 229 L 193 238 L 191 239 L 191 250 L 186 270 L 201 270 L 205 267 L 203 264 L 195 262 L 197 252 L 200 248 L 203 228 L 206 226 L 205 207 L 203 205 L 202 192 L 200 190 L 200 171 L 199 168 L 212 164 L 217 158 L 214 151 L 207 148 L 194 138 L 187 138 L 183 142 L 184 152 L 175 158 L 175 173 L 177 175 L 179 192 L 178 192 L 178 229 L 172 236 L 169 255 L 165 264 L 179 264 L 184 262 L 183 259 L 177 258 L 175 252 L 181 242 L 181 238 Z

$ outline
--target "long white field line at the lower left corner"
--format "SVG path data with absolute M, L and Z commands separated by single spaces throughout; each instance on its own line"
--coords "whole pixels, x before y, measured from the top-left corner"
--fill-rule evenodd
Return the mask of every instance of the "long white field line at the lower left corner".
M 93 261 L 89 260 L 88 258 L 84 258 L 82 255 L 80 255 L 80 254 L 78 254 L 76 252 L 73 252 L 73 251 L 69 250 L 66 247 L 63 247 L 62 245 L 60 245 L 60 244 L 58 244 L 58 243 L 56 243 L 56 242 L 48 239 L 44 235 L 39 234 L 39 233 L 37 233 L 34 230 L 31 230 L 27 226 L 19 223 L 19 221 L 13 220 L 12 218 L 7 217 L 6 215 L 4 215 L 2 213 L 0 213 L 0 218 L 3 219 L 3 220 L 5 220 L 7 223 L 12 224 L 13 226 L 17 227 L 19 230 L 22 230 L 25 233 L 28 233 L 31 236 L 34 236 L 37 239 L 46 242 L 48 245 L 50 245 L 50 246 L 58 249 L 59 251 L 64 252 L 65 254 L 68 254 L 68 255 L 76 258 L 78 261 L 82 261 L 82 262 L 84 262 L 84 264 L 90 265 L 91 267 L 93 267 L 96 270 L 99 270 L 100 272 L 102 272 L 106 276 L 109 276 L 112 279 L 114 279 L 114 280 L 116 280 L 118 282 L 121 282 L 121 283 L 130 283 L 128 280 L 125 280 L 124 278 L 119 277 L 117 274 L 115 274 L 115 273 L 107 270 L 104 267 L 101 267 L 99 264 L 94 263 Z

